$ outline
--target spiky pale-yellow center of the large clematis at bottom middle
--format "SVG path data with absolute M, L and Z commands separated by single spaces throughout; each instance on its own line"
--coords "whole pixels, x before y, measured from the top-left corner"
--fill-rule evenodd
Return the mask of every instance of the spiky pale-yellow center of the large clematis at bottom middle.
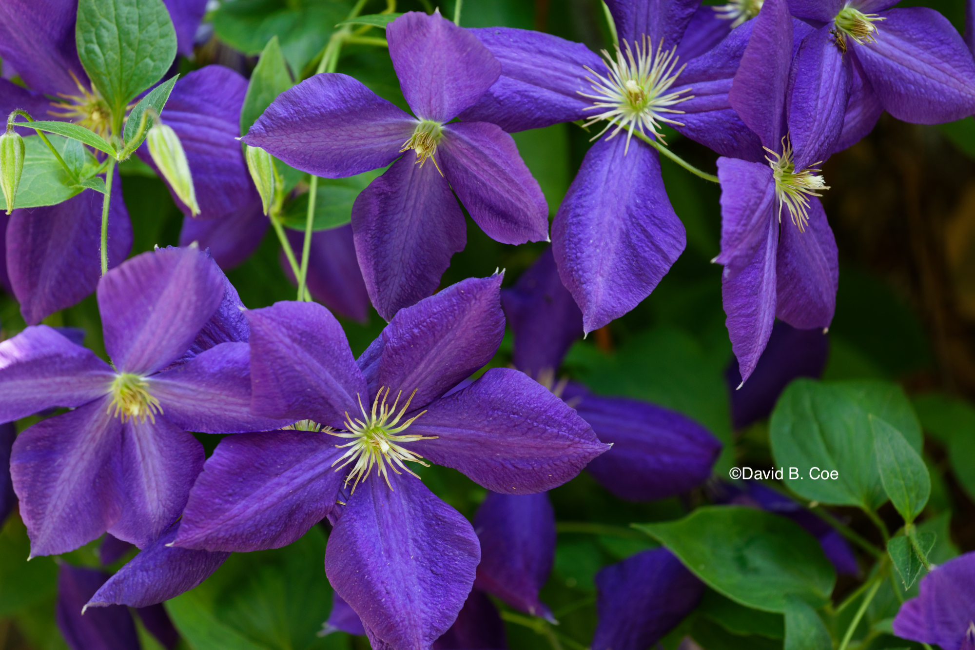
M 385 392 L 383 392 L 384 389 Z M 372 467 L 376 467 L 377 473 L 386 480 L 386 485 L 389 486 L 390 490 L 393 489 L 393 485 L 389 482 L 387 466 L 398 474 L 402 473 L 400 469 L 403 469 L 417 478 L 419 476 L 410 470 L 409 467 L 405 466 L 404 462 L 409 461 L 410 463 L 419 463 L 423 467 L 430 467 L 422 461 L 422 456 L 401 446 L 405 442 L 433 440 L 437 437 L 436 435 L 402 434 L 409 425 L 413 424 L 413 421 L 426 413 L 426 411 L 422 411 L 402 425 L 400 424 L 400 420 L 406 414 L 407 409 L 409 409 L 409 402 L 412 401 L 413 395 L 415 394 L 416 391 L 413 390 L 412 394 L 409 395 L 407 403 L 397 413 L 396 406 L 400 402 L 400 397 L 403 396 L 403 391 L 397 393 L 396 400 L 392 406 L 389 406 L 386 403 L 386 398 L 389 397 L 389 388 L 383 386 L 376 393 L 370 412 L 367 413 L 366 408 L 363 406 L 362 397 L 359 398 L 359 410 L 363 414 L 362 420 L 353 420 L 346 413 L 345 428 L 348 431 L 329 431 L 331 435 L 336 435 L 340 438 L 352 438 L 352 442 L 344 445 L 336 445 L 339 449 L 347 447 L 348 451 L 332 463 L 332 467 L 334 467 L 338 463 L 345 461 L 345 463 L 336 467 L 335 471 L 338 471 L 355 461 L 355 465 L 349 471 L 349 475 L 345 477 L 346 485 L 349 484 L 350 480 L 355 479 L 355 482 L 352 484 L 352 492 L 356 491 L 356 486 L 359 485 L 360 481 L 365 480 L 369 476 Z M 400 469 L 397 469 L 397 467 L 400 467 Z

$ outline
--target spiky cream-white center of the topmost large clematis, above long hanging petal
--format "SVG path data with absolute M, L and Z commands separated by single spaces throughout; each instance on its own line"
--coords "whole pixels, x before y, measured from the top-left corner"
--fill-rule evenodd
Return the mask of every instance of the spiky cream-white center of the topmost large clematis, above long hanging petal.
M 683 126 L 682 122 L 664 117 L 663 113 L 683 113 L 683 110 L 676 110 L 670 106 L 686 102 L 693 96 L 681 97 L 683 93 L 690 90 L 689 88 L 683 88 L 676 93 L 667 92 L 677 81 L 684 67 L 682 65 L 680 69 L 675 70 L 678 63 L 676 47 L 664 52 L 661 43 L 654 51 L 650 39 L 646 36 L 643 36 L 640 43 L 635 42 L 632 48 L 627 42 L 623 43 L 623 47 L 626 50 L 625 54 L 617 47 L 615 59 L 610 57 L 608 52 L 603 51 L 606 66 L 609 68 L 606 76 L 586 67 L 586 70 L 593 75 L 586 77 L 586 80 L 592 85 L 595 94 L 590 95 L 579 91 L 579 95 L 596 100 L 586 110 L 602 109 L 603 111 L 591 117 L 583 126 L 588 127 L 600 120 L 608 122 L 603 131 L 593 140 L 602 136 L 615 124 L 616 129 L 609 138 L 626 129 L 628 131 L 626 146 L 629 149 L 633 132 L 638 128 L 644 135 L 652 134 L 654 138 L 662 141 L 660 122 Z

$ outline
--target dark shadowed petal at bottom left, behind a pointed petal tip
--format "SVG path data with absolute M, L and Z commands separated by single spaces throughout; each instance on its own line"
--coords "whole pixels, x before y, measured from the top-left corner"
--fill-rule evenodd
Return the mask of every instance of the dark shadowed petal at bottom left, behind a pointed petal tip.
M 82 615 L 82 608 L 108 574 L 61 562 L 55 620 L 71 650 L 139 650 L 136 624 L 127 607 L 106 607 Z

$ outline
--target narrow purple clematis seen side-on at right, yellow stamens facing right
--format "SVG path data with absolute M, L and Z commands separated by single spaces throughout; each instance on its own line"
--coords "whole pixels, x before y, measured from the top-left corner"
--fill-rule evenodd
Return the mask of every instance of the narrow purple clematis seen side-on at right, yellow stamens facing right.
M 718 159 L 722 184 L 722 299 L 742 381 L 755 370 L 775 318 L 825 328 L 836 308 L 839 266 L 819 190 L 849 99 L 850 62 L 828 31 L 765 0 L 729 102 L 759 134 L 765 162 Z M 795 36 L 795 39 L 794 39 Z M 798 52 L 795 43 L 799 42 Z

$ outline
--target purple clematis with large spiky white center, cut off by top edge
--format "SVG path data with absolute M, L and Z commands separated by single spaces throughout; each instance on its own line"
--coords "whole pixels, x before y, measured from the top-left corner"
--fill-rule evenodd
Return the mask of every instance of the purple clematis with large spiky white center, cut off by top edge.
M 501 61 L 501 77 L 463 119 L 506 131 L 607 120 L 599 132 L 607 135 L 586 154 L 552 223 L 559 272 L 582 308 L 586 332 L 643 301 L 685 244 L 659 155 L 633 134 L 659 142 L 660 126 L 668 124 L 722 155 L 758 155 L 758 139 L 728 103 L 751 25 L 688 61 L 675 49 L 699 4 L 611 0 L 620 42 L 606 61 L 548 34 L 472 30 Z

